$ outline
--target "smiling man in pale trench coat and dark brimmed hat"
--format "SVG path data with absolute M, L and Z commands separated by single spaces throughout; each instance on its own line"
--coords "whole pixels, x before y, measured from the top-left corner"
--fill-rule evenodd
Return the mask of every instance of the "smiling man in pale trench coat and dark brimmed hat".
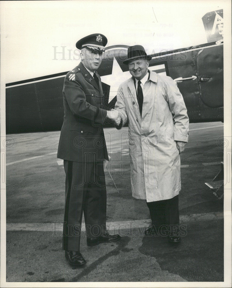
M 146 199 L 152 220 L 145 235 L 168 234 L 169 242 L 176 243 L 180 242 L 179 154 L 188 142 L 189 121 L 176 82 L 149 71 L 150 59 L 142 46 L 128 48 L 123 63 L 129 65 L 132 77 L 118 88 L 115 123 L 120 128 L 129 122 L 132 196 Z

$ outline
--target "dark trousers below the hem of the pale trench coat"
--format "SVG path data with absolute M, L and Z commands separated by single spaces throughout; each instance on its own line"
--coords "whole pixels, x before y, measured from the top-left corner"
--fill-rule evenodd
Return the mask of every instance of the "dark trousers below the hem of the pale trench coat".
M 179 232 L 179 195 L 167 200 L 147 202 L 152 226 L 160 231 L 163 225 L 168 226 L 169 235 Z M 162 232 L 163 233 L 163 232 Z

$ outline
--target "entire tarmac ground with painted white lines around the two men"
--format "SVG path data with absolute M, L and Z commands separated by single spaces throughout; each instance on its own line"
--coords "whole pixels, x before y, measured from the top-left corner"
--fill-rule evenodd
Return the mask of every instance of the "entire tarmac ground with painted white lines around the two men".
M 64 213 L 65 173 L 56 158 L 59 134 L 9 135 L 14 145 L 7 150 L 7 282 L 224 281 L 223 198 L 218 200 L 204 184 L 212 181 L 223 161 L 223 147 L 217 145 L 223 136 L 221 122 L 190 124 L 189 143 L 181 155 L 179 196 L 180 224 L 186 225 L 187 233 L 176 245 L 167 237 L 144 236 L 149 210 L 144 200 L 132 198 L 129 189 L 127 128 L 105 130 L 112 157 L 105 170 L 107 223 L 122 238 L 87 247 L 83 225 L 83 268 L 69 266 L 61 229 L 52 228 L 54 223 L 62 227 Z

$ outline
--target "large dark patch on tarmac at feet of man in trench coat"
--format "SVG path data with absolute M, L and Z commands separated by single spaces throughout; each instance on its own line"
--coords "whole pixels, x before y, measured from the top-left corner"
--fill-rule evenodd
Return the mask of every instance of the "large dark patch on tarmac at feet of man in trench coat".
M 169 243 L 167 237 L 144 236 L 139 252 L 188 281 L 224 281 L 223 223 L 223 219 L 188 223 L 187 235 L 178 244 Z

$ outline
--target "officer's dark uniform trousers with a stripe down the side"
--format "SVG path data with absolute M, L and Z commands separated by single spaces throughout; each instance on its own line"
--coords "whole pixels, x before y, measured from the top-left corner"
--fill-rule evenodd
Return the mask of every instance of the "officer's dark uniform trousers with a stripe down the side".
M 64 160 L 65 215 L 63 250 L 80 251 L 82 214 L 89 238 L 106 232 L 106 187 L 103 161 Z

